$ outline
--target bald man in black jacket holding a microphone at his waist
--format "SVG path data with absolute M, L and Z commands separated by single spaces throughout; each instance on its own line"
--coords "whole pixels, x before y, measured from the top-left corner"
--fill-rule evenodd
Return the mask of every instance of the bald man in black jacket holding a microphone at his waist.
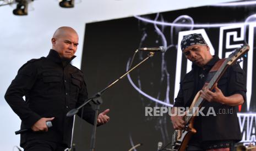
M 70 148 L 73 118 L 66 114 L 88 98 L 83 72 L 70 64 L 78 47 L 77 32 L 71 27 L 59 27 L 51 42 L 48 56 L 25 63 L 4 96 L 21 119 L 21 129 L 31 129 L 21 133 L 20 146 L 25 151 Z M 109 111 L 99 114 L 97 125 L 110 120 L 106 115 Z M 78 113 L 91 124 L 94 114 L 89 104 Z M 53 126 L 48 128 L 47 121 Z

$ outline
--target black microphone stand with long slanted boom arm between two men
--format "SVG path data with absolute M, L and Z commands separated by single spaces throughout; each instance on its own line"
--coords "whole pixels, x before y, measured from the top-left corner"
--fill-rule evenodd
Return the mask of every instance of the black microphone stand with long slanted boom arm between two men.
M 138 51 L 138 50 L 137 50 Z M 79 109 L 82 108 L 83 106 L 85 106 L 85 104 L 89 103 L 90 101 L 92 101 L 95 104 L 95 117 L 94 117 L 94 126 L 92 129 L 92 135 L 91 135 L 91 144 L 90 144 L 90 151 L 95 151 L 95 141 L 96 141 L 96 127 L 97 127 L 97 116 L 99 114 L 99 110 L 100 110 L 100 104 L 102 104 L 102 98 L 101 95 L 108 89 L 110 88 L 112 85 L 114 85 L 116 82 L 118 82 L 120 79 L 126 77 L 126 75 L 128 73 L 130 73 L 131 71 L 133 71 L 133 69 L 137 68 L 139 65 L 141 65 L 141 63 L 145 62 L 146 60 L 148 60 L 150 57 L 154 56 L 154 52 L 150 52 L 148 57 L 146 57 L 144 60 L 142 60 L 141 62 L 139 62 L 137 65 L 135 65 L 133 68 L 129 69 L 129 71 L 127 71 L 126 73 L 124 73 L 121 77 L 119 77 L 118 79 L 114 80 L 111 84 L 109 84 L 106 88 L 104 88 L 103 90 L 101 90 L 100 92 L 97 92 L 96 95 L 88 98 L 87 100 L 85 100 L 85 102 L 83 104 L 81 104 L 81 106 L 79 106 L 78 108 L 74 108 L 72 110 L 70 110 L 67 113 L 67 117 L 72 117 L 74 114 L 77 114 Z

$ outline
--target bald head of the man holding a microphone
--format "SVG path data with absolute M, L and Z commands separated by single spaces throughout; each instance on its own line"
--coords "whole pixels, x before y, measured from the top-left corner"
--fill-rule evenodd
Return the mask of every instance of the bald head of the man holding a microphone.
M 78 34 L 72 27 L 59 27 L 52 36 L 52 49 L 60 57 L 70 59 L 77 51 Z

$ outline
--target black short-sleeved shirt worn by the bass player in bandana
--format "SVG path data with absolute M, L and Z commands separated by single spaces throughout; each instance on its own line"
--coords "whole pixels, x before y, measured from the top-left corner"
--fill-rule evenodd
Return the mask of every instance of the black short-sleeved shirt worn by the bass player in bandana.
M 175 107 L 190 106 L 197 92 L 203 87 L 211 67 L 213 67 L 218 60 L 219 57 L 214 56 L 206 65 L 205 71 L 196 65 L 192 66 L 192 71 L 187 73 L 180 83 L 178 96 L 175 99 Z M 204 72 L 204 78 L 200 77 L 202 72 Z M 217 86 L 221 89 L 224 96 L 241 94 L 244 101 L 246 101 L 244 77 L 245 73 L 242 68 L 238 64 L 235 64 L 227 68 L 227 71 L 222 75 Z M 208 112 L 209 107 L 213 107 L 216 117 L 210 115 L 209 117 L 195 118 L 195 129 L 198 130 L 195 136 L 193 136 L 195 139 L 198 139 L 199 142 L 214 140 L 241 140 L 236 107 L 208 101 L 205 101 L 202 106 L 205 107 L 203 110 L 203 113 L 205 114 Z M 226 114 L 222 114 L 224 112 Z

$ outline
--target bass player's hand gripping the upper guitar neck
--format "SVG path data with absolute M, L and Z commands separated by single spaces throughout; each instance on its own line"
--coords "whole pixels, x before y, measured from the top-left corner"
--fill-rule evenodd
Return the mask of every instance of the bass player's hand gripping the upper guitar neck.
M 215 92 L 210 91 L 209 89 L 204 88 L 200 91 L 201 97 L 209 102 L 219 102 L 223 103 L 225 96 L 223 95 L 222 91 L 217 87 L 217 83 L 214 85 Z

